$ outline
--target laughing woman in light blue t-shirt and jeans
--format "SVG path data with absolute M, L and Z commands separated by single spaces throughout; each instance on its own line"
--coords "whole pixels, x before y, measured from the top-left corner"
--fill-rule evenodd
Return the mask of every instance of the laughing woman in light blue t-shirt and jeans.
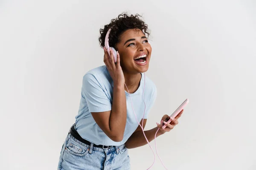
M 148 26 L 139 16 L 123 13 L 100 29 L 105 65 L 83 77 L 79 113 L 63 144 L 58 170 L 130 170 L 127 148 L 147 144 L 137 120 L 144 129 L 157 88 L 142 74 L 148 70 L 151 45 L 145 37 Z M 109 45 L 117 51 L 116 63 L 113 51 L 109 57 L 105 48 L 110 28 Z M 157 123 L 157 127 L 144 131 L 148 141 L 154 139 L 158 128 L 157 136 L 173 129 L 182 112 L 165 129 Z M 161 124 L 166 118 L 168 115 Z

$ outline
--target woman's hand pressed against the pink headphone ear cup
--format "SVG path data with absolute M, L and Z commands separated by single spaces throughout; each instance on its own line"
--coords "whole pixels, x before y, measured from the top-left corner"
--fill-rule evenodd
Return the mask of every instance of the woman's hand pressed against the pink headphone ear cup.
M 103 61 L 107 66 L 108 72 L 112 77 L 114 84 L 123 85 L 125 83 L 125 76 L 120 66 L 120 56 L 118 51 L 116 51 L 117 57 L 116 57 L 116 64 L 115 64 L 112 49 L 110 48 L 110 58 L 108 56 L 108 51 L 106 50 L 106 48 L 104 47 L 103 49 L 104 49 Z

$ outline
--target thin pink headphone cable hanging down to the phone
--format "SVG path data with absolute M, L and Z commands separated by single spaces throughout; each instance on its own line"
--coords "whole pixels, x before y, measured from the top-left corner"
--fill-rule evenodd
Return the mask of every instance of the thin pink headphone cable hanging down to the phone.
M 145 104 L 145 101 L 144 101 L 145 79 L 146 79 L 146 77 L 145 77 L 145 72 L 144 72 L 143 102 L 144 102 L 145 108 L 144 108 L 144 113 L 143 113 L 143 119 L 144 119 L 145 109 L 146 109 L 146 104 Z M 126 84 L 125 84 L 125 87 L 127 88 Z M 129 94 L 129 96 L 130 96 L 130 98 L 131 98 L 131 95 L 130 95 L 130 93 L 129 93 L 128 88 L 127 88 L 127 91 L 128 91 L 128 94 Z M 134 112 L 134 108 L 133 108 L 133 105 L 132 105 L 132 100 L 131 100 L 131 107 L 132 107 L 132 110 L 133 110 L 133 112 Z M 136 116 L 135 112 L 134 112 L 134 116 L 135 116 L 135 118 L 136 118 L 136 120 L 137 120 L 138 124 L 140 125 L 140 122 L 138 121 L 138 119 L 137 119 L 137 116 Z M 142 125 L 143 125 L 143 119 L 142 119 Z M 141 127 L 141 129 L 142 129 L 142 131 L 143 131 L 143 134 L 144 134 L 144 136 L 145 136 L 146 141 L 148 142 L 148 139 L 147 139 L 147 137 L 146 137 L 146 135 L 145 135 L 145 133 L 144 133 L 143 126 L 141 126 L 141 125 L 140 125 L 140 127 Z M 158 132 L 158 130 L 159 130 L 159 128 L 157 129 L 157 132 Z M 157 132 L 155 133 L 155 137 L 154 137 L 155 147 L 156 147 L 156 152 L 157 152 L 157 144 L 156 144 L 156 136 L 157 136 Z M 153 154 L 154 154 L 154 150 L 152 149 L 152 147 L 151 147 L 151 145 L 149 144 L 149 142 L 148 142 L 148 145 L 149 145 L 149 147 L 151 148 L 151 150 L 153 151 Z M 158 158 L 160 159 L 160 156 L 158 155 L 158 153 L 157 153 L 157 156 L 158 156 Z M 156 156 L 155 156 L 155 154 L 154 154 L 154 162 L 155 162 L 155 157 L 156 157 Z M 161 161 L 161 163 L 163 164 L 163 162 L 162 162 L 162 160 L 161 160 L 161 159 L 160 159 L 160 161 Z M 152 164 L 152 165 L 151 165 L 147 170 L 149 170 L 149 169 L 154 165 L 154 162 L 153 162 L 153 164 Z M 163 164 L 163 167 L 165 167 L 165 166 L 164 166 L 164 164 Z M 165 169 L 167 170 L 167 168 L 166 168 L 166 167 L 165 167 Z

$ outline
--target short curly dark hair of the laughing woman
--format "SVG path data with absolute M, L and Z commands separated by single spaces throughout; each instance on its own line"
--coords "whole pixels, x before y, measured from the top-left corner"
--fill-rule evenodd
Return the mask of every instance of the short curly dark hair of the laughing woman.
M 109 46 L 114 47 L 116 49 L 116 44 L 120 42 L 120 36 L 122 33 L 128 29 L 140 29 L 143 31 L 144 34 L 148 34 L 149 36 L 149 29 L 148 25 L 145 24 L 143 20 L 141 20 L 140 17 L 142 17 L 139 14 L 135 14 L 131 16 L 128 16 L 126 12 L 123 12 L 122 14 L 119 14 L 116 19 L 112 19 L 111 23 L 108 25 L 105 25 L 103 29 L 99 30 L 100 37 L 99 37 L 99 44 L 103 48 L 105 46 L 105 37 L 106 34 L 111 28 L 111 32 L 109 34 Z M 138 30 L 138 31 L 140 31 Z

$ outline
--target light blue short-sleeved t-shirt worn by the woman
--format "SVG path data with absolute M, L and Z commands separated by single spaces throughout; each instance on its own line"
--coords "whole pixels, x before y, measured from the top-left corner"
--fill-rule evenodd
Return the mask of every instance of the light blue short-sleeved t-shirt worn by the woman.
M 134 112 L 140 122 L 143 118 L 145 105 L 143 102 L 144 73 L 140 80 L 140 87 L 131 95 L 125 89 L 127 120 L 124 137 L 121 142 L 111 140 L 96 124 L 91 112 L 111 111 L 113 101 L 113 79 L 105 65 L 93 68 L 83 77 L 81 89 L 81 101 L 79 112 L 76 116 L 76 130 L 79 135 L 94 144 L 105 146 L 119 146 L 124 144 L 138 127 L 138 122 Z M 147 76 L 145 78 L 144 100 L 146 104 L 144 119 L 148 118 L 148 113 L 154 104 L 157 96 L 157 88 L 154 82 Z M 134 112 L 131 107 L 131 99 Z

